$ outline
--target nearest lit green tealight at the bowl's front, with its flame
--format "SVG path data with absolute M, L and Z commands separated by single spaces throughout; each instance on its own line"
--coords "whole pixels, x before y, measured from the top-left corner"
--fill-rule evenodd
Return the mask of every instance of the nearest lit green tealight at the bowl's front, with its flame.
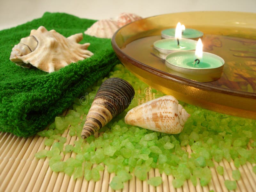
M 221 77 L 224 60 L 212 53 L 203 52 L 203 44 L 199 39 L 196 51 L 170 53 L 165 58 L 165 65 L 174 75 L 209 82 Z

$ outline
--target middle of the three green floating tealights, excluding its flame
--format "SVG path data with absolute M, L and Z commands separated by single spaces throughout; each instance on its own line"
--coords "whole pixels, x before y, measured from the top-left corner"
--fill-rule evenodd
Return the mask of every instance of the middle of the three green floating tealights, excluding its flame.
M 154 48 L 161 53 L 168 54 L 173 51 L 189 51 L 196 49 L 197 41 L 192 39 L 161 39 L 154 43 Z

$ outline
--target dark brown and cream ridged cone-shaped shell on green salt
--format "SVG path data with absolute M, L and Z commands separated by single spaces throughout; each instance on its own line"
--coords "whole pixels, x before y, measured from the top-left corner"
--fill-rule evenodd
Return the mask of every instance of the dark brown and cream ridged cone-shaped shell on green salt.
M 89 137 L 123 112 L 131 103 L 134 93 L 132 85 L 123 79 L 109 78 L 104 81 L 88 111 L 81 137 Z

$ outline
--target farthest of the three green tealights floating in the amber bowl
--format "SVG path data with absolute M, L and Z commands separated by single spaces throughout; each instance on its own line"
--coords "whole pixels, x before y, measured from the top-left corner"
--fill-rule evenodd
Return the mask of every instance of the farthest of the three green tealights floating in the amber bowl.
M 186 38 L 186 39 L 199 38 L 199 37 L 204 35 L 203 32 L 198 31 L 196 29 L 185 28 L 184 25 L 181 25 L 181 30 L 182 30 L 182 36 L 181 37 Z M 173 38 L 173 37 L 175 37 L 175 31 L 176 31 L 175 28 L 165 29 L 161 32 L 161 36 L 164 39 Z

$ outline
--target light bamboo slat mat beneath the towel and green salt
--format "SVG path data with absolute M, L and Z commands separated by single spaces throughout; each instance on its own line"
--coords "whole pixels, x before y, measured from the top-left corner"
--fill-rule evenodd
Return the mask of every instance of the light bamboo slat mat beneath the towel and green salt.
M 144 98 L 150 100 L 152 93 L 149 92 Z M 141 98 L 140 98 L 141 99 Z M 65 114 L 64 114 L 65 115 Z M 67 141 L 64 145 L 74 145 L 74 141 L 78 140 L 76 136 L 69 135 L 69 129 L 67 129 L 62 137 L 67 137 Z M 109 187 L 109 183 L 115 176 L 115 173 L 109 174 L 107 167 L 100 172 L 100 180 L 94 182 L 93 180 L 87 181 L 84 178 L 73 179 L 73 176 L 69 177 L 63 172 L 52 172 L 49 167 L 49 158 L 44 159 L 35 158 L 35 154 L 42 149 L 49 150 L 51 147 L 44 145 L 46 137 L 40 137 L 38 135 L 29 138 L 17 137 L 10 133 L 0 132 L 0 192 L 3 191 L 114 191 Z M 252 141 L 251 141 L 252 142 Z M 248 149 L 251 146 L 248 145 Z M 183 147 L 189 154 L 192 153 L 190 146 Z M 70 156 L 75 157 L 75 153 L 68 153 L 66 155 L 61 152 L 62 160 L 66 161 Z M 214 161 L 213 161 L 214 162 Z M 160 174 L 158 169 L 153 169 L 148 172 L 148 179 L 155 176 L 161 176 L 163 183 L 158 187 L 148 185 L 146 181 L 140 181 L 133 174 L 133 178 L 124 183 L 122 190 L 124 191 L 143 191 L 143 192 L 206 192 L 210 190 L 214 191 L 228 191 L 224 185 L 224 180 L 234 180 L 232 178 L 232 170 L 236 170 L 233 160 L 228 162 L 226 159 L 222 159 L 220 163 L 214 162 L 215 167 L 211 167 L 212 180 L 204 187 L 200 186 L 199 179 L 197 180 L 197 186 L 194 187 L 190 180 L 185 181 L 181 188 L 173 188 L 172 175 Z M 221 165 L 224 167 L 224 174 L 221 176 L 217 173 L 216 167 Z M 256 191 L 256 174 L 252 172 L 252 166 L 255 164 L 246 164 L 239 167 L 241 173 L 241 179 L 238 180 L 236 191 L 251 192 Z M 96 166 L 96 165 L 93 165 Z

